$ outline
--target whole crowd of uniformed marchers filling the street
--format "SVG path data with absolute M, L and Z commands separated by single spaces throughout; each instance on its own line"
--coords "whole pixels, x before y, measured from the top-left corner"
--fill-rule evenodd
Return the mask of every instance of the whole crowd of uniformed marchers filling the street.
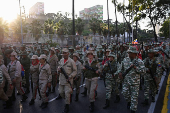
M 120 101 L 120 93 L 127 101 L 131 113 L 137 111 L 139 90 L 144 85 L 145 99 L 141 104 L 149 105 L 151 95 L 159 92 L 159 83 L 164 71 L 169 75 L 170 44 L 154 43 L 111 43 L 73 47 L 50 47 L 38 44 L 20 47 L 2 45 L 0 52 L 0 99 L 5 101 L 5 109 L 10 109 L 16 94 L 22 96 L 21 102 L 32 93 L 29 105 L 35 103 L 37 94 L 41 98 L 42 109 L 48 106 L 48 95 L 56 92 L 56 100 L 64 99 L 63 113 L 69 112 L 73 89 L 75 101 L 79 101 L 80 87 L 83 96 L 89 96 L 90 112 L 98 93 L 98 80 L 104 80 L 106 103 L 110 105 L 113 93 L 115 103 Z M 31 81 L 31 82 L 30 82 Z M 100 86 L 99 86 L 100 87 Z M 122 92 L 120 92 L 122 91 Z M 151 94 L 150 94 L 151 92 Z

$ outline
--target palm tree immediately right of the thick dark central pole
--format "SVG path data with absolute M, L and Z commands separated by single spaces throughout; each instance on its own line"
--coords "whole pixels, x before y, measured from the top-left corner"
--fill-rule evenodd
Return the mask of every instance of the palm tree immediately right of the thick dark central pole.
M 84 30 L 84 22 L 81 18 L 78 18 L 75 21 L 75 27 L 76 27 L 76 32 L 78 32 L 78 34 L 81 35 Z

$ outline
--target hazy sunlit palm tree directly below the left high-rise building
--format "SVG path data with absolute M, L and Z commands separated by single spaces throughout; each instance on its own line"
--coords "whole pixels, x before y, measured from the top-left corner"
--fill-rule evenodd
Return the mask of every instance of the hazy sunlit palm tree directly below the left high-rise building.
M 35 40 L 38 41 L 40 38 L 42 26 L 38 20 L 33 20 L 30 24 L 30 32 L 33 34 L 33 37 L 35 37 Z

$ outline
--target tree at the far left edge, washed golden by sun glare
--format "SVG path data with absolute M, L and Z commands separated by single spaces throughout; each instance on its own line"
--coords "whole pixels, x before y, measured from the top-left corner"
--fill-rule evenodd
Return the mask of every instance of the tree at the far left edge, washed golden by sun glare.
M 2 44 L 4 37 L 8 34 L 8 24 L 0 18 L 0 44 Z

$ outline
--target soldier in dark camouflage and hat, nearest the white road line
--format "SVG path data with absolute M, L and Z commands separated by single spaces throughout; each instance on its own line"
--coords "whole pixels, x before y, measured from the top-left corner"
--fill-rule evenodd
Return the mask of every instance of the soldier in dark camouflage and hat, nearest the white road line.
M 156 79 L 161 72 L 161 64 L 159 59 L 154 56 L 156 52 L 157 51 L 153 49 L 148 50 L 148 57 L 144 59 L 144 64 L 146 67 L 146 74 L 144 75 L 145 101 L 142 103 L 144 105 L 148 105 L 149 90 L 152 91 L 152 102 L 155 102 L 155 94 L 157 91 Z

